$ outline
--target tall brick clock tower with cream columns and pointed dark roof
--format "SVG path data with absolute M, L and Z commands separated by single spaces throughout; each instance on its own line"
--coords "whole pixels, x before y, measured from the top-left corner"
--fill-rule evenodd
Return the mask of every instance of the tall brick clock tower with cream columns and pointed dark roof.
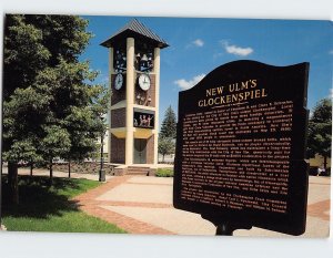
M 117 175 L 158 165 L 160 50 L 169 47 L 137 19 L 101 45 L 109 49 L 109 162 Z

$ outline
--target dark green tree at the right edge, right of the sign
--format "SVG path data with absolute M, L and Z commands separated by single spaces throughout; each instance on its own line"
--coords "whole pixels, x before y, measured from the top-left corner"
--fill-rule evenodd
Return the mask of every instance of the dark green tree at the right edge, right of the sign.
M 329 99 L 321 100 L 314 107 L 309 121 L 307 154 L 316 153 L 324 157 L 324 167 L 327 166 L 327 157 L 331 156 L 332 142 L 332 102 Z

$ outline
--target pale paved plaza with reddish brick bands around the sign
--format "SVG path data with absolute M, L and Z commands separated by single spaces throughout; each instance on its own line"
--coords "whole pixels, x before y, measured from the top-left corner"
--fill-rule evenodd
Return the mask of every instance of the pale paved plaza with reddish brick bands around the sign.
M 20 169 L 29 174 L 29 169 Z M 48 175 L 34 171 L 34 175 Z M 67 173 L 54 172 L 65 177 Z M 97 175 L 75 174 L 73 178 L 98 179 Z M 115 224 L 132 234 L 214 235 L 215 227 L 200 215 L 172 206 L 173 178 L 107 176 L 107 183 L 75 198 L 85 213 Z M 330 226 L 330 177 L 310 176 L 307 223 L 303 237 L 327 237 Z M 234 236 L 287 236 L 261 228 L 239 229 Z

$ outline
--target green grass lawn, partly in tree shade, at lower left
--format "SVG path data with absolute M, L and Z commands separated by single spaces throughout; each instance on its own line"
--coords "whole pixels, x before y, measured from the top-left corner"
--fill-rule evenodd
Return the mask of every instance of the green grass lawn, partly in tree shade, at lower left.
M 2 224 L 10 231 L 125 233 L 81 211 L 72 198 L 100 185 L 88 179 L 19 177 L 20 204 L 8 205 L 3 176 Z

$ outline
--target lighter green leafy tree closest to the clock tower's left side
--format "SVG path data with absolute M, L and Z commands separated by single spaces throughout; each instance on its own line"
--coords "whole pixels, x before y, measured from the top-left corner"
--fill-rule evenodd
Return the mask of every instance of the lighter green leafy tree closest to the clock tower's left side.
M 61 60 L 59 65 L 47 69 L 37 78 L 36 89 L 50 96 L 47 124 L 60 125 L 71 141 L 70 147 L 61 154 L 69 162 L 69 176 L 71 161 L 83 161 L 95 152 L 95 140 L 104 126 L 100 117 L 107 112 L 110 99 L 105 86 L 87 83 L 95 76 L 88 62 Z

